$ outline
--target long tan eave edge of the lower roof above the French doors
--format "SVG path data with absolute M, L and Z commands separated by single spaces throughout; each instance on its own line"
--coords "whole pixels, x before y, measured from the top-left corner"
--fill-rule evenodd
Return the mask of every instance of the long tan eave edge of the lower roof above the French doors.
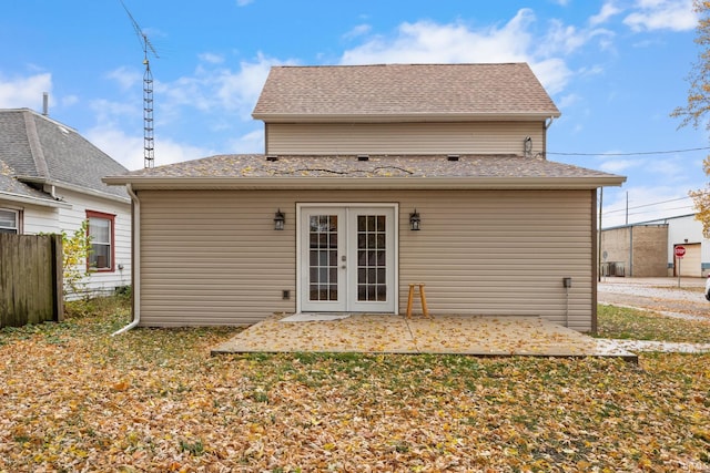
M 473 189 L 594 189 L 620 186 L 626 177 L 152 177 L 109 176 L 109 185 L 131 184 L 141 189 L 376 189 L 376 191 L 473 191 Z

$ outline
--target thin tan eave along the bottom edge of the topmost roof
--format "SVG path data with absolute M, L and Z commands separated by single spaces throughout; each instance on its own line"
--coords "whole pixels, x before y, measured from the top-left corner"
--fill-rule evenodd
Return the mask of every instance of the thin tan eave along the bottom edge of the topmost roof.
M 558 119 L 558 110 L 524 113 L 367 113 L 367 114 L 300 114 L 300 113 L 253 113 L 254 120 L 265 123 L 389 123 L 389 122 L 525 122 Z

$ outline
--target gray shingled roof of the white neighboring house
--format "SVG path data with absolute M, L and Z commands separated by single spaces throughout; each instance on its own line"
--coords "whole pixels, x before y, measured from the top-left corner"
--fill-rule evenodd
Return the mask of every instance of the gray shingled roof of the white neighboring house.
M 101 179 L 125 167 L 75 130 L 29 109 L 0 110 L 0 191 L 47 196 L 26 183 L 65 186 L 128 200 L 124 188 Z

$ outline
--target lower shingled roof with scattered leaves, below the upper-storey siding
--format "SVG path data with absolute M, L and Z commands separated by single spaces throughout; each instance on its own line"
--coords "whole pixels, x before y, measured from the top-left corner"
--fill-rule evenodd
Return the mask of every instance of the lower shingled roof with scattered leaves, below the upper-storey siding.
M 483 187 L 500 185 L 537 186 L 559 185 L 595 187 L 596 185 L 620 185 L 625 177 L 600 171 L 587 169 L 544 158 L 514 155 L 369 155 L 367 161 L 358 156 L 283 156 L 260 154 L 230 154 L 202 160 L 140 169 L 123 176 L 111 176 L 111 184 L 144 183 L 168 184 L 182 182 L 187 186 L 210 183 L 232 186 L 254 185 L 255 182 L 277 184 L 288 178 L 296 182 L 314 179 L 324 183 L 328 178 L 353 182 L 356 186 L 386 186 L 398 179 L 398 185 L 420 186 L 425 181 L 439 181 L 440 185 L 465 185 Z M 452 161 L 457 160 L 457 161 Z M 406 179 L 406 181 L 405 181 Z M 357 182 L 358 181 L 358 182 Z M 408 184 L 407 184 L 408 182 Z M 538 184 L 534 185 L 534 182 Z

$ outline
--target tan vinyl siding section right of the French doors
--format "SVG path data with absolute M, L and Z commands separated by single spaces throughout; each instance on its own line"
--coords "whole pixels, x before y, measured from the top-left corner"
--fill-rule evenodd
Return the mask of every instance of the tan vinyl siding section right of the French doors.
M 400 281 L 426 282 L 428 305 L 439 313 L 542 316 L 565 323 L 569 307 L 569 326 L 589 330 L 590 198 L 588 191 L 419 198 L 413 204 L 422 230 L 399 240 Z M 400 215 L 405 228 L 407 218 Z M 572 278 L 569 306 L 565 277 Z

